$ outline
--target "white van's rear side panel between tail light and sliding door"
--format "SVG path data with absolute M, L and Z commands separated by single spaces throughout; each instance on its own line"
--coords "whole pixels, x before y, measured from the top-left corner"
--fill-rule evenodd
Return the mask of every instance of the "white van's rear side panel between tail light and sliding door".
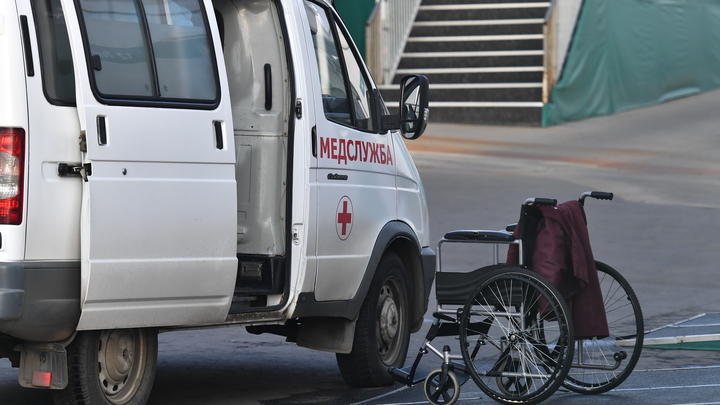
M 26 2 L 18 7 L 21 15 L 33 15 Z M 30 215 L 25 218 L 25 260 L 76 261 L 80 260 L 82 184 L 77 178 L 60 177 L 58 164 L 80 163 L 80 122 L 75 107 L 53 105 L 44 94 L 34 18 L 29 25 L 35 75 L 25 77 L 32 122 L 27 139 L 26 209 Z

